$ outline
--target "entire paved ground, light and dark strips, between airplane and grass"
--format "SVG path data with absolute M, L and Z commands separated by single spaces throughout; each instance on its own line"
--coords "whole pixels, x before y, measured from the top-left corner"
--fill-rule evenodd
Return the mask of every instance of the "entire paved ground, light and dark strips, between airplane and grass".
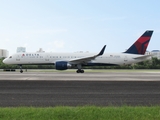
M 159 74 L 0 72 L 0 107 L 160 105 Z

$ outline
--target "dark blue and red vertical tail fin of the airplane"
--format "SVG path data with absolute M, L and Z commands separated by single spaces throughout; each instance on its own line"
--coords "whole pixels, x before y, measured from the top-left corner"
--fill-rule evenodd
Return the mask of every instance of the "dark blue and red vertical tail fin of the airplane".
M 144 55 L 151 39 L 153 31 L 146 31 L 126 52 L 130 54 Z

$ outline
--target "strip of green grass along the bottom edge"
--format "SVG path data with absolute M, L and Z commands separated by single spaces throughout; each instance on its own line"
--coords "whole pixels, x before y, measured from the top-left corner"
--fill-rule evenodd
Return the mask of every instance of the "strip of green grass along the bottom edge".
M 0 120 L 160 120 L 160 106 L 0 108 Z

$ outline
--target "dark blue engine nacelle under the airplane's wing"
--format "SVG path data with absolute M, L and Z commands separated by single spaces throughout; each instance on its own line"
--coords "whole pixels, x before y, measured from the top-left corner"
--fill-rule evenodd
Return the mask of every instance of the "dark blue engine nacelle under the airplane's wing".
M 66 61 L 58 61 L 55 63 L 56 70 L 67 70 L 68 68 L 71 68 L 71 67 L 72 65 Z

